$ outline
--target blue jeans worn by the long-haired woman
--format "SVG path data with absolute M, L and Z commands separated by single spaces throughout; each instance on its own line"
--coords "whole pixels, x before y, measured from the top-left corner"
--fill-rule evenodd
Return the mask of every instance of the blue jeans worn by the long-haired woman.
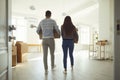
M 62 48 L 63 48 L 63 65 L 64 68 L 67 69 L 68 52 L 69 52 L 71 66 L 74 65 L 74 57 L 73 57 L 74 41 L 72 39 L 63 39 Z

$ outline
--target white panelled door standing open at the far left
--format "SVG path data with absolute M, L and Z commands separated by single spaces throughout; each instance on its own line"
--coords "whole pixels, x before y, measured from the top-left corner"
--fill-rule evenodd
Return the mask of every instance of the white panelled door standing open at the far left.
M 8 36 L 10 25 L 10 0 L 0 0 L 0 80 L 12 80 L 12 50 Z M 8 35 L 9 34 L 9 35 Z

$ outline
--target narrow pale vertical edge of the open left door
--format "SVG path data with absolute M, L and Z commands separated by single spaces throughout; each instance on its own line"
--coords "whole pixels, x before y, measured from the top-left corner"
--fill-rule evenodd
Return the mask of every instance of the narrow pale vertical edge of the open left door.
M 7 47 L 8 47 L 8 80 L 12 80 L 12 42 L 9 40 L 9 36 L 12 36 L 12 32 L 9 31 L 12 21 L 12 0 L 6 0 L 7 4 Z

